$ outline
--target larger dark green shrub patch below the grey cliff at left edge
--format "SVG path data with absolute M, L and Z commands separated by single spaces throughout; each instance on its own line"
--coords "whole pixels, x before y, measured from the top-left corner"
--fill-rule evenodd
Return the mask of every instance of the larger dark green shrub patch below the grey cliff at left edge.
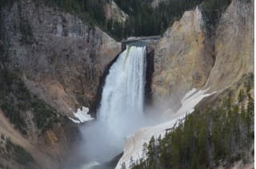
M 31 95 L 18 73 L 0 72 L 0 106 L 10 122 L 24 135 L 27 130 L 24 113 L 28 110 L 34 114 L 34 121 L 41 132 L 58 123 L 58 112 Z

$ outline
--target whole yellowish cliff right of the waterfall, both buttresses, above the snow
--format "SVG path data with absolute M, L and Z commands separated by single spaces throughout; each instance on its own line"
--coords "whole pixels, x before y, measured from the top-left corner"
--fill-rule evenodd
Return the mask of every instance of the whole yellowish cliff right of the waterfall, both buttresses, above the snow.
M 192 88 L 221 92 L 254 71 L 254 2 L 233 0 L 215 29 L 199 8 L 166 31 L 155 50 L 154 102 L 174 110 Z

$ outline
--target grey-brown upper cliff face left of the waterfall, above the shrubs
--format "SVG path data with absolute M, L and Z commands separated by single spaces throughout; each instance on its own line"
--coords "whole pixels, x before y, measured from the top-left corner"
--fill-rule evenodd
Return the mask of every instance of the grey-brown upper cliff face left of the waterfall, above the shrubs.
M 1 12 L 2 62 L 60 112 L 90 107 L 99 77 L 121 44 L 78 17 L 30 0 Z

